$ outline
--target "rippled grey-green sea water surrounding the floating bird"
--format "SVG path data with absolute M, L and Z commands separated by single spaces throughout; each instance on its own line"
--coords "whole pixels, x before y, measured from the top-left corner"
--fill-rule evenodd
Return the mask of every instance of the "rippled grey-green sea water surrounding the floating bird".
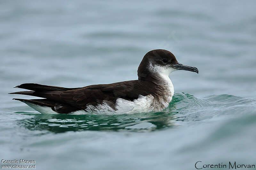
M 36 169 L 255 164 L 255 1 L 3 0 L 0 21 L 1 159 Z M 134 80 L 158 48 L 200 71 L 170 75 L 175 94 L 162 112 L 41 115 L 7 94 L 27 82 Z

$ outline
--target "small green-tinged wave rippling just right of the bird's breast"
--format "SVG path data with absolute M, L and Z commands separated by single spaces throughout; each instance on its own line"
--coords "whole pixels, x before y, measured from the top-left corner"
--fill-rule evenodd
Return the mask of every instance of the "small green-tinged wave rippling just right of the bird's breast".
M 222 94 L 211 95 L 202 98 L 176 92 L 172 102 L 164 111 L 174 115 L 182 115 L 177 120 L 197 121 L 214 117 L 216 115 L 236 115 L 255 108 L 255 99 Z M 248 108 L 249 107 L 249 108 Z

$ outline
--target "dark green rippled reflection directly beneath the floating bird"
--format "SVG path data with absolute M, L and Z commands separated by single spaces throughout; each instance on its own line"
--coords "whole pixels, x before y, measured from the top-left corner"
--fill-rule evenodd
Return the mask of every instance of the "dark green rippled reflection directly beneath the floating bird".
M 24 113 L 26 114 L 26 113 Z M 164 112 L 133 115 L 42 115 L 18 121 L 18 125 L 29 130 L 51 131 L 153 131 L 171 127 L 173 116 Z

